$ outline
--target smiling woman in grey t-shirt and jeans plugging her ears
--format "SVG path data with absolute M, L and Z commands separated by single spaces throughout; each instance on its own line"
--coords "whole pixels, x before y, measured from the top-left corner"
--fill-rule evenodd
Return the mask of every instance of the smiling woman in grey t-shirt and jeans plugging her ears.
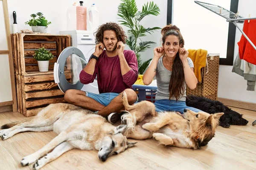
M 145 85 L 149 85 L 154 76 L 157 79 L 156 111 L 183 114 L 184 109 L 188 108 L 198 112 L 200 110 L 186 106 L 186 85 L 195 89 L 198 80 L 194 74 L 194 64 L 188 58 L 189 52 L 184 48 L 180 29 L 169 24 L 161 34 L 163 47 L 154 49 L 154 58 L 143 76 Z

